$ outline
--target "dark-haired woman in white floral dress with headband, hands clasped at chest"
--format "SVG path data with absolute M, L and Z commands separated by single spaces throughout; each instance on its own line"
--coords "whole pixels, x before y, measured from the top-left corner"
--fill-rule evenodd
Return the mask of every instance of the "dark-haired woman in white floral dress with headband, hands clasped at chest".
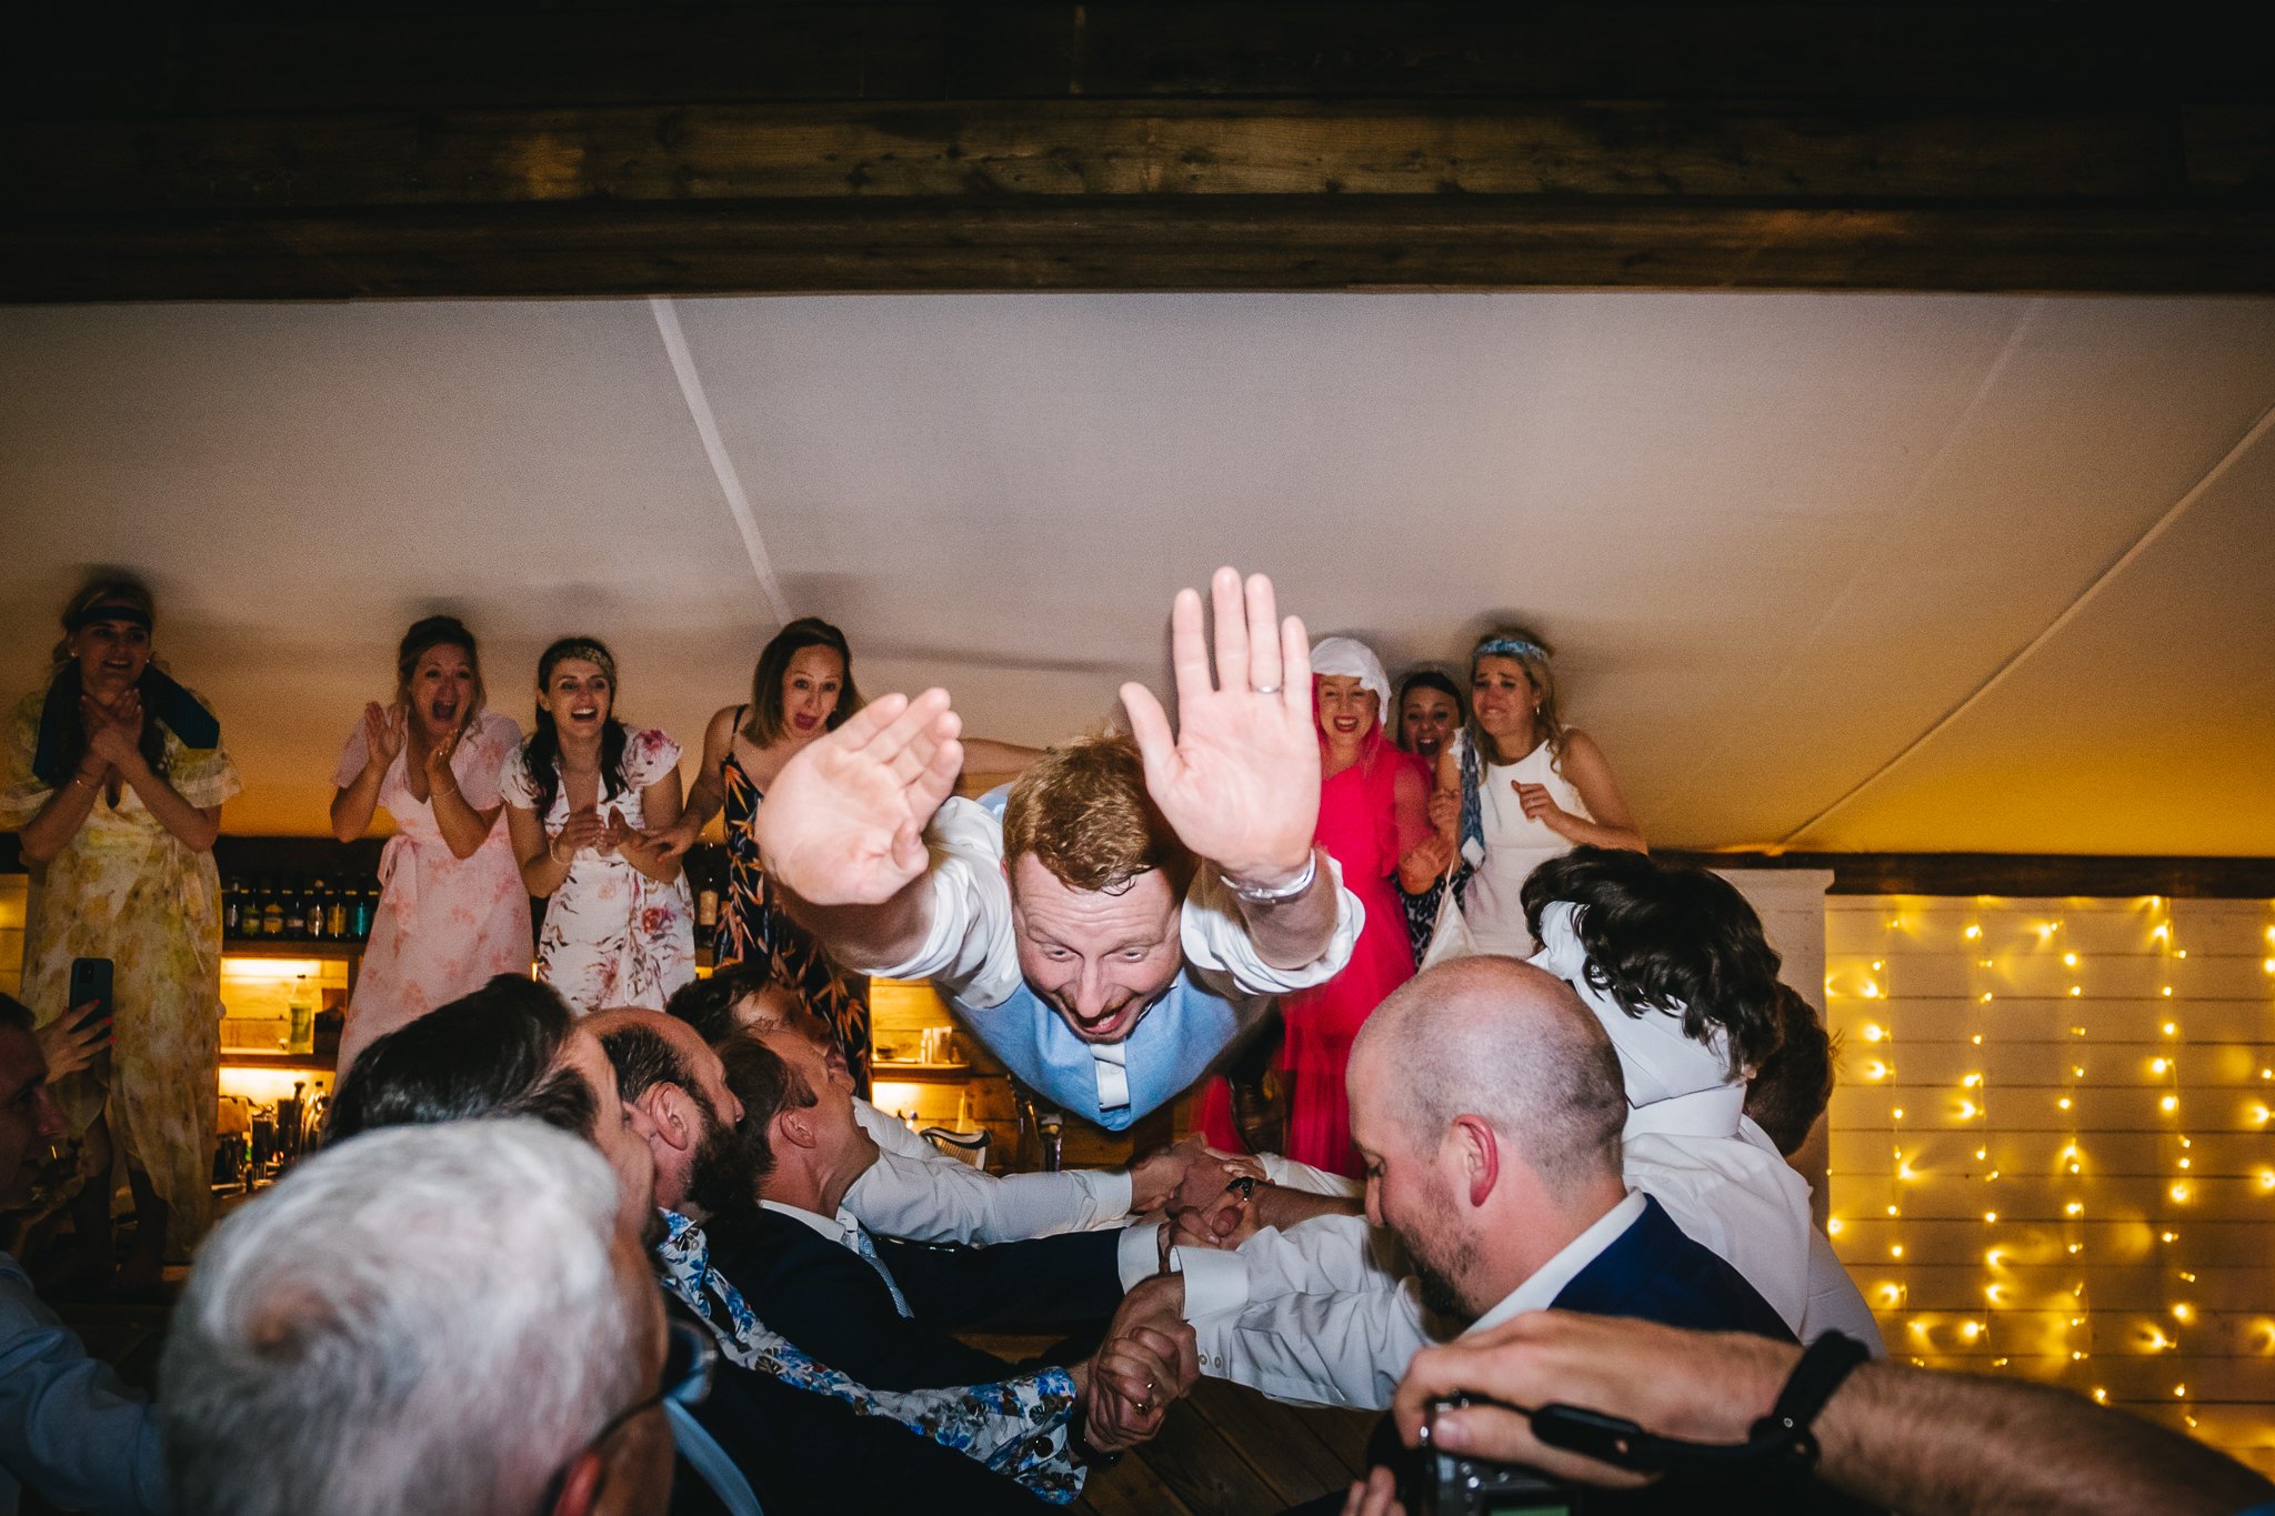
M 680 816 L 680 745 L 617 720 L 617 659 L 564 636 L 537 659 L 537 723 L 505 761 L 521 882 L 546 900 L 537 977 L 578 1014 L 662 1009 L 696 977 L 694 907 L 678 859 L 644 834 Z

